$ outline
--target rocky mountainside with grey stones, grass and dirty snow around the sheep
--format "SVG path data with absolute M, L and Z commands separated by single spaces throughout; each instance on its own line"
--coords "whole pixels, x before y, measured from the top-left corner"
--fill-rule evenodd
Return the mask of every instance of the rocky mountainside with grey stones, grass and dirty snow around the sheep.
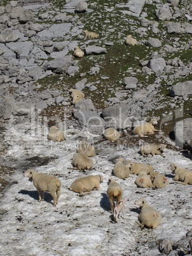
M 168 166 L 191 169 L 191 1 L 79 2 L 0 1 L 1 255 L 188 255 L 191 185 L 173 181 Z M 85 38 L 86 29 L 98 38 Z M 136 46 L 125 45 L 129 34 Z M 77 45 L 81 59 L 72 55 Z M 76 106 L 71 88 L 85 93 Z M 162 132 L 144 141 L 166 143 L 165 158 L 138 153 L 132 127 L 151 117 Z M 62 143 L 47 139 L 55 124 Z M 116 143 L 102 138 L 111 125 L 121 132 Z M 85 173 L 71 165 L 82 139 L 97 149 Z M 125 220 L 114 224 L 106 190 L 117 155 L 152 164 L 169 185 L 141 189 L 134 175 L 117 179 L 129 201 Z M 60 178 L 57 208 L 48 194 L 38 203 L 21 175 L 29 167 Z M 100 190 L 69 191 L 88 173 L 104 175 Z M 153 231 L 135 223 L 141 196 L 163 217 Z

